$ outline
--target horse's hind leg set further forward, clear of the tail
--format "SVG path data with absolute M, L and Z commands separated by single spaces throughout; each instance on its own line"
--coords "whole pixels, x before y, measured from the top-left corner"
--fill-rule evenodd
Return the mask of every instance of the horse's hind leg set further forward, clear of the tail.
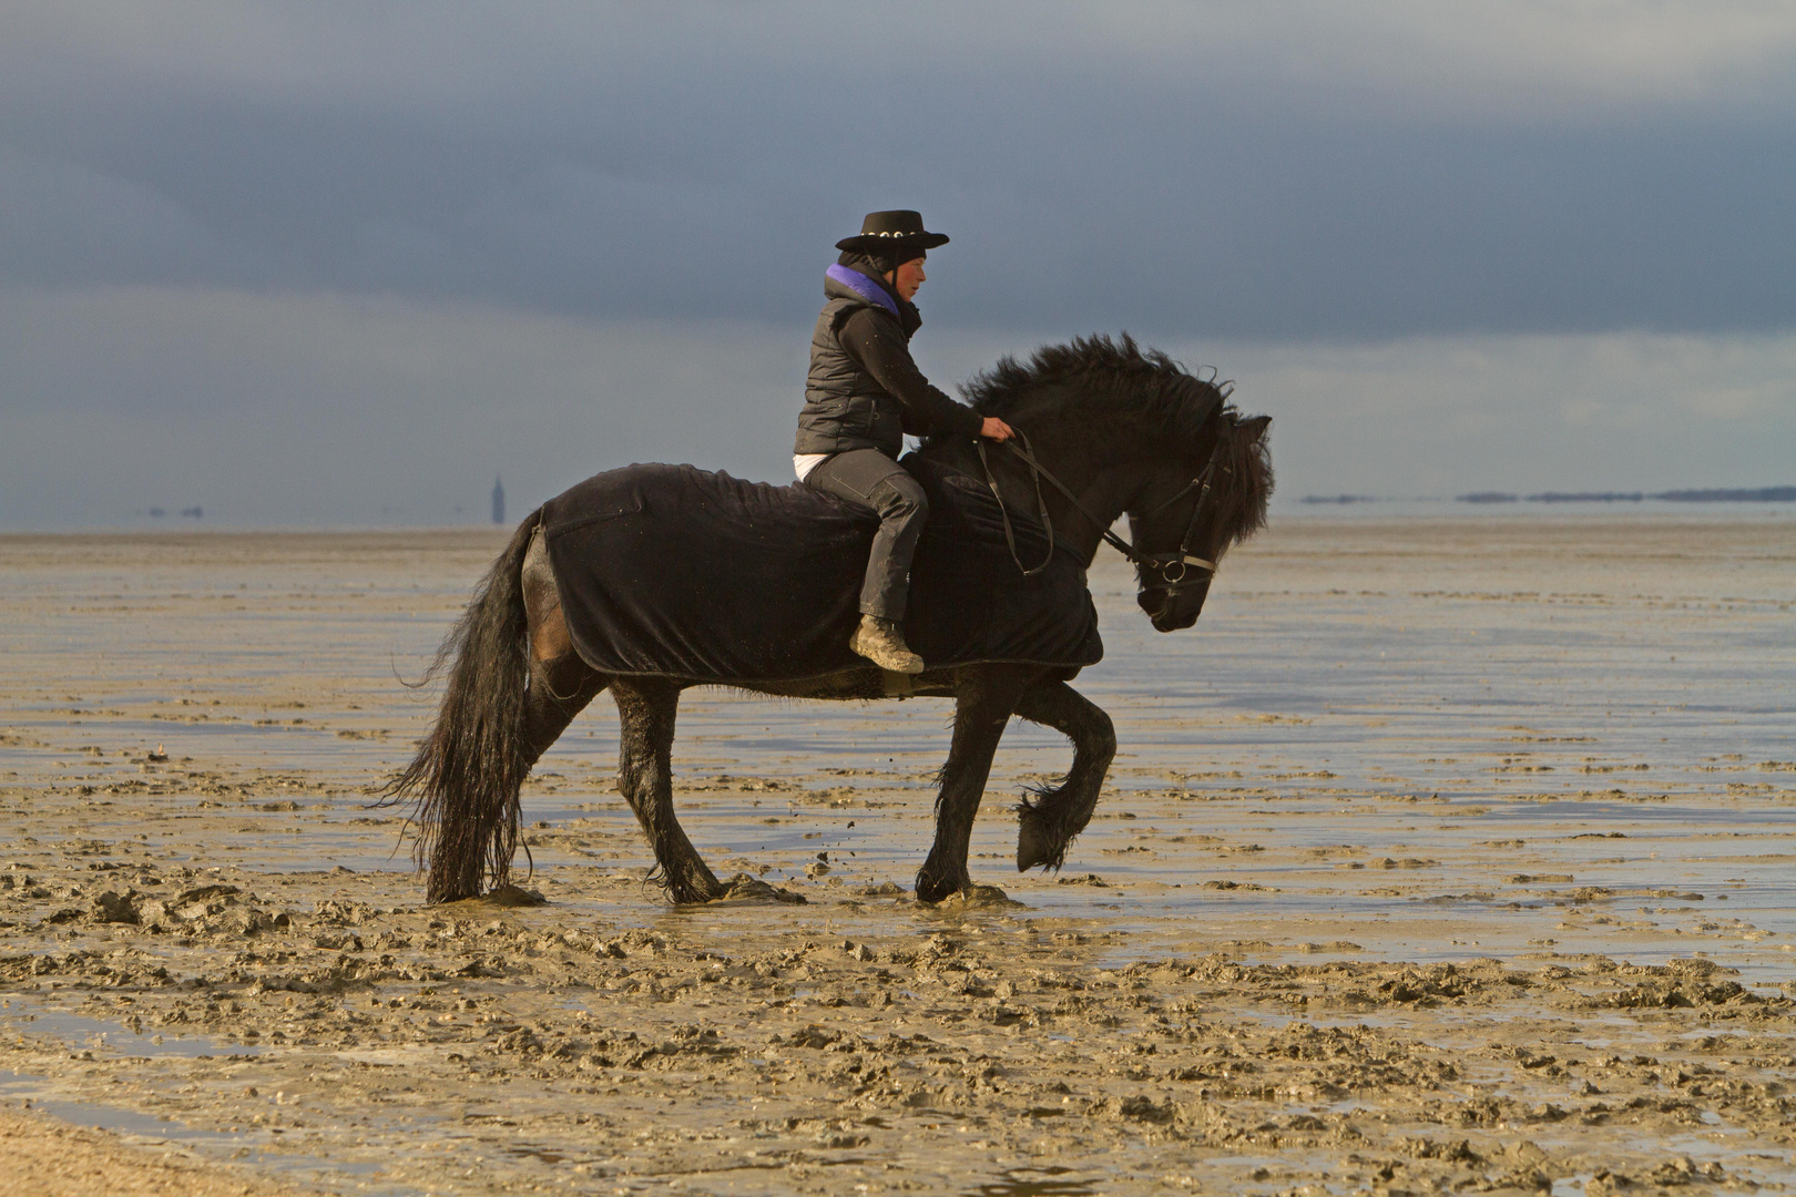
M 674 817 L 672 757 L 679 691 L 679 684 L 668 678 L 612 680 L 611 696 L 618 700 L 621 723 L 618 793 L 629 800 L 636 822 L 648 834 L 668 896 L 677 903 L 706 903 L 722 897 L 724 885 Z

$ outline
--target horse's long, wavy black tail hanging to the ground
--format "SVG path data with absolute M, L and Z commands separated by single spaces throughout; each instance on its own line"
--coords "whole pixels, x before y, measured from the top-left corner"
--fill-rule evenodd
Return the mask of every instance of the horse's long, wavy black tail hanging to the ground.
M 483 879 L 499 887 L 510 878 L 523 822 L 517 793 L 533 765 L 524 739 L 530 621 L 523 565 L 539 522 L 541 511 L 532 511 L 517 526 L 444 637 L 418 682 L 449 666 L 436 725 L 381 791 L 386 802 L 413 802 L 415 858 L 418 870 L 429 870 L 426 901 L 476 897 Z

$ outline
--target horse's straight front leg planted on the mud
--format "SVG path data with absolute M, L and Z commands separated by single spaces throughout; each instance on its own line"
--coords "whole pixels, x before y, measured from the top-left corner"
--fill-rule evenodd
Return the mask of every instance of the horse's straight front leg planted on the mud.
M 936 797 L 936 843 L 916 874 L 916 896 L 939 903 L 973 885 L 966 870 L 973 818 L 991 775 L 991 754 L 999 748 L 1004 725 L 1017 698 L 1038 669 L 1029 666 L 975 666 L 961 671 L 954 702 L 954 747 L 941 766 L 941 793 Z

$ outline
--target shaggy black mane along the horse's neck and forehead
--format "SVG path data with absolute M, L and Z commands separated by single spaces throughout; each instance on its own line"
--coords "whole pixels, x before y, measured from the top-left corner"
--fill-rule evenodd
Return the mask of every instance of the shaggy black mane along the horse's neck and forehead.
M 1272 497 L 1272 454 L 1264 425 L 1252 429 L 1228 389 L 1214 379 L 1200 379 L 1160 350 L 1144 350 L 1126 332 L 1074 337 L 1067 345 L 1043 345 L 1027 363 L 1004 357 L 991 370 L 970 379 L 961 393 L 984 416 L 1011 416 L 1026 397 L 1061 386 L 1069 416 L 1099 427 L 1130 420 L 1151 427 L 1164 443 L 1196 450 L 1214 413 L 1221 422 L 1223 470 L 1216 485 L 1221 526 L 1239 544 L 1266 526 L 1266 501 Z M 1223 400 L 1218 406 L 1218 400 Z M 1074 409 L 1076 406 L 1076 409 Z

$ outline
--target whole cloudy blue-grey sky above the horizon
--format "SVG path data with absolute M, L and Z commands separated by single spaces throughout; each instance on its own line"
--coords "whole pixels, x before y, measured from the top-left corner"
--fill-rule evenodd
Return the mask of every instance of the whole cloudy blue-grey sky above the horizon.
M 0 0 L 0 529 L 788 481 L 891 206 L 932 380 L 1128 330 L 1281 504 L 1796 483 L 1789 4 Z

